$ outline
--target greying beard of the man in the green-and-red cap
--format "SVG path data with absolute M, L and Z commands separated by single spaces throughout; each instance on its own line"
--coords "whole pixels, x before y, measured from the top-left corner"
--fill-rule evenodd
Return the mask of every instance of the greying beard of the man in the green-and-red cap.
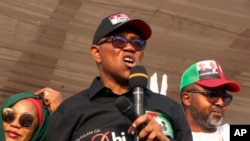
M 191 114 L 196 122 L 207 130 L 214 130 L 216 126 L 221 125 L 224 120 L 224 116 L 215 117 L 211 115 L 210 112 L 206 115 L 205 112 L 200 112 L 193 105 L 191 105 Z

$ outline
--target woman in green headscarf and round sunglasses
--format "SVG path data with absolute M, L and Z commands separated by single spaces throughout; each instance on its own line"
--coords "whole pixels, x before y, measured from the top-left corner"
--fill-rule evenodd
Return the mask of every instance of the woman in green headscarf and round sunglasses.
M 45 141 L 51 118 L 50 105 L 54 103 L 48 97 L 45 101 L 44 97 L 42 94 L 23 92 L 7 98 L 0 109 L 0 140 Z M 58 99 L 57 103 L 61 101 Z

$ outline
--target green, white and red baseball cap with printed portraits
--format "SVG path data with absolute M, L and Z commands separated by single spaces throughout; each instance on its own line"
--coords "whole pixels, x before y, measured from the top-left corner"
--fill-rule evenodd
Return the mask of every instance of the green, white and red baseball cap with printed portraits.
M 220 65 L 214 60 L 197 62 L 183 72 L 180 90 L 193 83 L 207 88 L 216 88 L 225 85 L 228 91 L 240 91 L 240 85 L 235 81 L 227 80 Z

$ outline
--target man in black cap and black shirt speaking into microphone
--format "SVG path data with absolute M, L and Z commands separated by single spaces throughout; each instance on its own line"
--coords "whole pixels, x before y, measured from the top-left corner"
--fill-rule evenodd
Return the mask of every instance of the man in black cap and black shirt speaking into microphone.
M 90 47 L 99 76 L 57 108 L 47 141 L 192 140 L 181 105 L 146 87 L 138 86 L 136 92 L 129 85 L 131 69 L 140 65 L 151 33 L 145 21 L 124 13 L 101 21 Z M 142 97 L 134 97 L 140 92 Z M 120 97 L 125 104 L 116 101 Z

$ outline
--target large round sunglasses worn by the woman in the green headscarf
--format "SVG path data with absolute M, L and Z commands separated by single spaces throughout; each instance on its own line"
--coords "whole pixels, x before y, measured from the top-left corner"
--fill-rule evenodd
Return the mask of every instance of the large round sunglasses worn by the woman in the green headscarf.
M 11 123 L 15 120 L 15 118 L 16 118 L 16 113 L 14 109 L 12 108 L 3 109 L 2 119 L 4 122 Z M 34 121 L 34 116 L 28 113 L 22 114 L 19 118 L 19 124 L 22 127 L 31 127 L 33 121 Z

